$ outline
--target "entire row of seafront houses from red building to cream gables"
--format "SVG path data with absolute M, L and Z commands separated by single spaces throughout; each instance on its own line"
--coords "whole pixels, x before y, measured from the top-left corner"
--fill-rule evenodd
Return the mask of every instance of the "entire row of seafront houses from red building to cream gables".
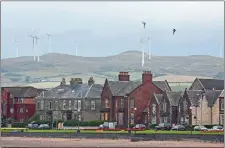
M 2 87 L 1 112 L 6 118 L 26 121 L 104 120 L 119 127 L 128 124 L 224 124 L 224 80 L 196 78 L 183 92 L 171 90 L 167 81 L 153 81 L 144 71 L 142 81 L 130 81 L 120 72 L 118 81 L 100 84 L 70 84 L 62 79 L 50 89 Z

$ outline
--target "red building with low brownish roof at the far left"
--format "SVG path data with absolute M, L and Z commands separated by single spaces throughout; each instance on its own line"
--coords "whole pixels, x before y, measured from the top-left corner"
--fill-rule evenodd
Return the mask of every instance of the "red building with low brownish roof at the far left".
M 2 87 L 1 112 L 6 119 L 23 122 L 35 115 L 34 98 L 43 90 L 34 87 Z

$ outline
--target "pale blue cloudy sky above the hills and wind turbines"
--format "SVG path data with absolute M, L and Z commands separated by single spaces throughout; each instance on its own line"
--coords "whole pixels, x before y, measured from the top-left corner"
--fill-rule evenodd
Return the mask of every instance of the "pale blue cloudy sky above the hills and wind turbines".
M 221 2 L 2 2 L 1 58 L 52 52 L 99 57 L 140 51 L 140 39 L 151 38 L 153 55 L 220 55 L 224 48 L 224 3 Z M 141 21 L 147 23 L 143 29 Z M 177 32 L 172 35 L 175 28 Z M 38 33 L 37 31 L 38 30 Z M 13 42 L 18 40 L 17 44 Z

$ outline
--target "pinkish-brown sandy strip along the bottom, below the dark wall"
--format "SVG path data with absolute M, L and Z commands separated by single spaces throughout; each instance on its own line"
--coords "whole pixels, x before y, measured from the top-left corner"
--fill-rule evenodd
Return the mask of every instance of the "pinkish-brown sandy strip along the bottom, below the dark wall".
M 223 143 L 196 141 L 141 141 L 1 137 L 1 147 L 223 147 Z

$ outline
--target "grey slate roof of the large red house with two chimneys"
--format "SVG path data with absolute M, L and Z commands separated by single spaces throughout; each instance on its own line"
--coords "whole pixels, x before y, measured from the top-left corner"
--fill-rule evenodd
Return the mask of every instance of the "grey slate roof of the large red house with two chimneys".
M 127 93 L 132 92 L 142 84 L 141 81 L 108 81 L 109 87 L 114 96 L 125 96 Z M 153 81 L 162 91 L 171 91 L 166 81 Z

